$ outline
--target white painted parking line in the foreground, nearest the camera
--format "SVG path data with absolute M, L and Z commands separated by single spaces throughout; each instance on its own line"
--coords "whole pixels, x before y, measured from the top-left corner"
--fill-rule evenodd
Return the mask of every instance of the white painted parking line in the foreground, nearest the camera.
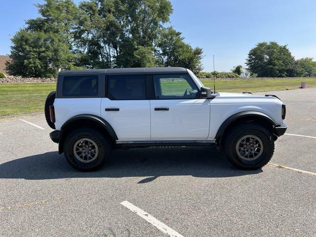
M 162 233 L 164 233 L 168 236 L 171 236 L 171 237 L 183 237 L 178 232 L 176 232 L 175 230 L 172 230 L 170 227 L 168 227 L 165 224 L 163 224 L 162 222 L 158 221 L 155 217 L 151 216 L 146 211 L 143 211 L 142 209 L 138 208 L 137 206 L 134 206 L 132 203 L 130 203 L 128 201 L 123 201 L 120 204 L 122 204 L 123 206 L 125 206 L 126 208 L 128 208 L 129 210 L 134 212 L 135 214 L 139 215 L 140 217 L 142 217 L 143 219 L 148 221 L 150 224 L 155 226 Z

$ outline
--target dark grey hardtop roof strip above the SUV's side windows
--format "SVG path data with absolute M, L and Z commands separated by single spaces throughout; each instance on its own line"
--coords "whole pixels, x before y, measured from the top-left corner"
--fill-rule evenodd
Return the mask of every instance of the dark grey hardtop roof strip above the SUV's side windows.
M 156 67 L 156 68 L 108 68 L 108 69 L 87 69 L 87 70 L 66 70 L 59 74 L 81 74 L 81 73 L 106 73 L 107 75 L 119 74 L 174 74 L 187 73 L 185 68 L 180 67 Z

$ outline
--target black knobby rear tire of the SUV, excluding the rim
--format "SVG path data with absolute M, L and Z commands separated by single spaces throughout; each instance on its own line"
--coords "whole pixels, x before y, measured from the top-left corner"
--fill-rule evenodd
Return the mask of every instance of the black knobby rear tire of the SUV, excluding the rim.
M 95 160 L 84 163 L 75 157 L 73 148 L 75 143 L 82 138 L 94 141 L 98 146 L 98 156 Z M 67 161 L 80 171 L 93 171 L 102 167 L 106 158 L 110 156 L 111 143 L 108 138 L 95 129 L 82 127 L 71 132 L 64 143 L 64 154 Z

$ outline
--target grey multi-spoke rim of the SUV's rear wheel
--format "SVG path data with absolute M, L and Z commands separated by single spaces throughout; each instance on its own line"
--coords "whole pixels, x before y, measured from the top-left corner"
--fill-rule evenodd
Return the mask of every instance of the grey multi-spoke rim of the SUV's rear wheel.
M 74 155 L 81 162 L 92 162 L 98 157 L 98 153 L 98 145 L 89 138 L 81 138 L 74 145 Z

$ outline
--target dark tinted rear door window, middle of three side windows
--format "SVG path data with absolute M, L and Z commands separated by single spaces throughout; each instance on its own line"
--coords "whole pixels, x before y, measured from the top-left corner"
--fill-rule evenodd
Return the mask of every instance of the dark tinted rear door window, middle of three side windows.
M 144 100 L 145 88 L 145 75 L 117 75 L 108 78 L 110 100 Z

